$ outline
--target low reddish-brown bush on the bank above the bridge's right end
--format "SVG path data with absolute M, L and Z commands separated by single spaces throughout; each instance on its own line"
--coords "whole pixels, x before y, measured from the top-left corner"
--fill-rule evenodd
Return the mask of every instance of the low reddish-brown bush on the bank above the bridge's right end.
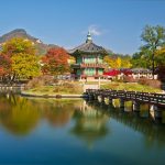
M 138 81 L 140 85 L 146 85 L 153 88 L 161 88 L 162 82 L 157 79 L 147 79 L 147 78 L 141 78 Z

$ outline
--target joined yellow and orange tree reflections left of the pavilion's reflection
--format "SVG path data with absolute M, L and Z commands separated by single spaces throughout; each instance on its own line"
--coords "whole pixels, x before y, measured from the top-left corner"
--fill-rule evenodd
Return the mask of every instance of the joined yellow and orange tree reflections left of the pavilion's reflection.
M 30 133 L 41 119 L 53 127 L 63 127 L 72 118 L 79 101 L 28 99 L 14 95 L 0 96 L 0 123 L 16 135 Z

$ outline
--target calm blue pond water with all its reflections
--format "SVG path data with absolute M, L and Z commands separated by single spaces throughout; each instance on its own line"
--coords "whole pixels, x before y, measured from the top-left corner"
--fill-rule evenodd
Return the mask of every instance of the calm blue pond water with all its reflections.
M 165 124 L 145 110 L 1 95 L 0 164 L 164 165 Z

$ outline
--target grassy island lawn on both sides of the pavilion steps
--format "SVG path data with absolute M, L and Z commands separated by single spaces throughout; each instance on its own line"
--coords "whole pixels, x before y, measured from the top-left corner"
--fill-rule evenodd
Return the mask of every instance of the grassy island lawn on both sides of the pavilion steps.
M 161 89 L 153 87 L 139 85 L 139 84 L 125 84 L 125 82 L 101 82 L 101 89 L 114 89 L 114 90 L 133 90 L 144 92 L 161 92 Z M 25 90 L 26 94 L 33 95 L 80 95 L 82 94 L 82 84 L 68 82 L 58 86 L 38 86 L 32 89 Z

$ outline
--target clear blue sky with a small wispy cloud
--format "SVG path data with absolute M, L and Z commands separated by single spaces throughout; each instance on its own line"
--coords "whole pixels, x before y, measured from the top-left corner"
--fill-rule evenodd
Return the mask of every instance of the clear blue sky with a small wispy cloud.
M 165 0 L 0 0 L 0 36 L 24 29 L 44 43 L 74 48 L 92 41 L 133 54 L 144 26 L 165 26 Z

